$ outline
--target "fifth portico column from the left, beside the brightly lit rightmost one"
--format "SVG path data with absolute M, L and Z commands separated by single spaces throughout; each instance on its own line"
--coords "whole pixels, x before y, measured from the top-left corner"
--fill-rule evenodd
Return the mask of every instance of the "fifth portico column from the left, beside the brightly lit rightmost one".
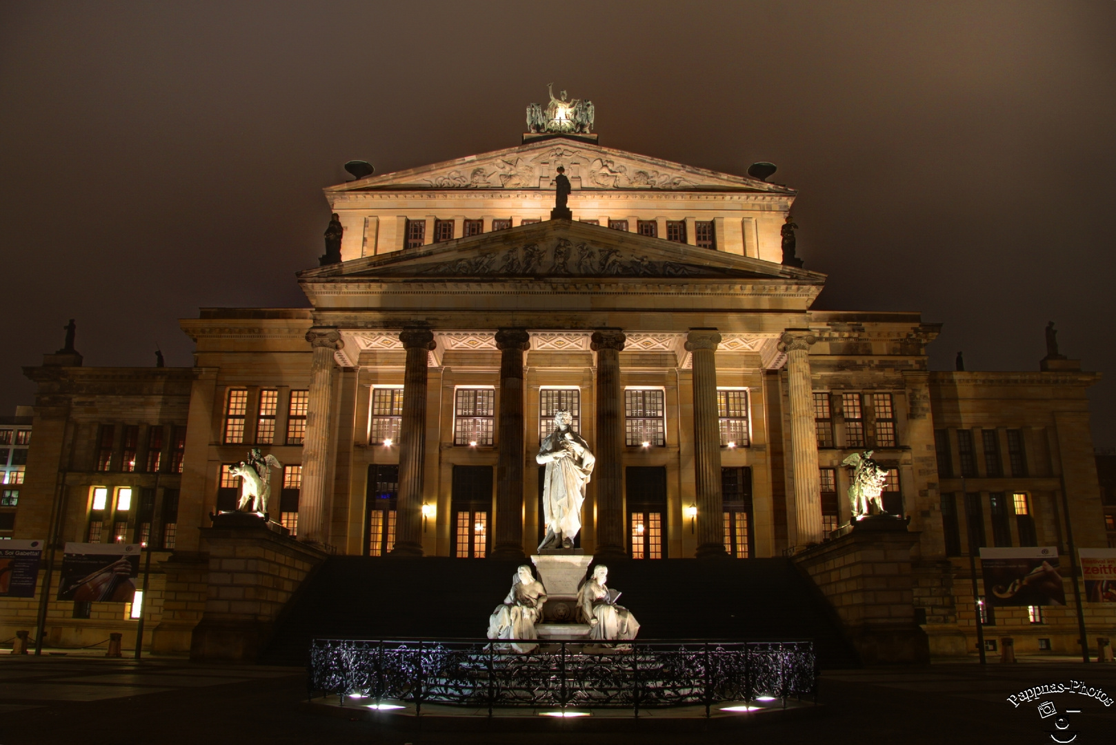
M 698 556 L 725 556 L 724 500 L 721 495 L 721 430 L 716 412 L 715 328 L 695 328 L 686 335 L 693 356 L 694 487 L 698 506 Z

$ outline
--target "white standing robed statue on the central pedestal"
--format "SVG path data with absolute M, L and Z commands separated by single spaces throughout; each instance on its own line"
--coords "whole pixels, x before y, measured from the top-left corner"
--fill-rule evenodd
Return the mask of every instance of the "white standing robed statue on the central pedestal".
M 536 462 L 546 466 L 542 486 L 542 508 L 547 535 L 539 544 L 543 548 L 573 548 L 581 529 L 581 503 L 585 486 L 593 474 L 596 458 L 589 443 L 570 429 L 574 417 L 568 411 L 555 413 L 555 430 L 542 440 Z

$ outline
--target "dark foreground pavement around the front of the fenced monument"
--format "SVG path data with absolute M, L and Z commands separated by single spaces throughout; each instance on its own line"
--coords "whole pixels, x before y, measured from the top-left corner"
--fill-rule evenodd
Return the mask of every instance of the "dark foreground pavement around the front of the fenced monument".
M 1116 666 L 1070 663 L 934 665 L 822 675 L 820 706 L 802 716 L 743 715 L 664 726 L 639 722 L 437 717 L 350 720 L 306 705 L 292 668 L 192 665 L 184 660 L 0 657 L 0 745 L 160 743 L 247 745 L 426 745 L 454 743 L 1051 743 L 1116 742 L 1116 704 L 1069 693 L 1018 708 L 1008 697 L 1039 685 L 1079 680 L 1116 696 Z M 1040 711 L 1039 706 L 1048 703 Z M 1050 714 L 1050 705 L 1057 711 Z M 1067 714 L 1067 710 L 1080 713 Z M 1049 714 L 1046 718 L 1042 714 Z M 1064 717 L 1064 718 L 1062 718 Z M 1059 722 L 1060 719 L 1060 722 Z M 1056 724 L 1057 723 L 1057 724 Z M 1059 726 L 1064 728 L 1059 729 Z M 618 727 L 618 728 L 617 728 Z M 1076 734 L 1074 741 L 1069 738 Z

